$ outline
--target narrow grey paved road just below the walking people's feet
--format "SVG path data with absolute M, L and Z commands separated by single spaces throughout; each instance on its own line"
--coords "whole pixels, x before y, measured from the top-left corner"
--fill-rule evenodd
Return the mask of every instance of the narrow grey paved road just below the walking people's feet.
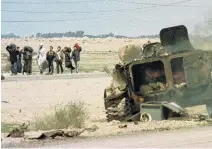
M 78 73 L 78 74 L 63 74 L 63 75 L 18 75 L 6 76 L 2 82 L 10 81 L 29 81 L 29 80 L 54 80 L 54 79 L 80 79 L 80 78 L 101 78 L 110 77 L 106 73 Z

